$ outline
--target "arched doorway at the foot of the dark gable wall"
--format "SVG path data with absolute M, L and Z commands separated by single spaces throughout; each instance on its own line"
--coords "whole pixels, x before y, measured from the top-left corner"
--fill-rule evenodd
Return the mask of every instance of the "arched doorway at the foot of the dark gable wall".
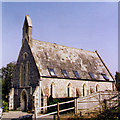
M 20 103 L 21 103 L 21 110 L 23 112 L 26 112 L 27 109 L 28 109 L 28 96 L 27 96 L 27 91 L 26 90 L 23 90 L 21 92 L 21 100 L 20 100 Z

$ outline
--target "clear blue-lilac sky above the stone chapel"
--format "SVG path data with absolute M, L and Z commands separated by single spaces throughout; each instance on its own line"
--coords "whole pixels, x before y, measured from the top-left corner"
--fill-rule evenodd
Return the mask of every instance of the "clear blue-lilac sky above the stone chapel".
M 118 71 L 117 2 L 2 3 L 2 66 L 17 61 L 25 15 L 33 39 L 97 50 L 111 73 Z

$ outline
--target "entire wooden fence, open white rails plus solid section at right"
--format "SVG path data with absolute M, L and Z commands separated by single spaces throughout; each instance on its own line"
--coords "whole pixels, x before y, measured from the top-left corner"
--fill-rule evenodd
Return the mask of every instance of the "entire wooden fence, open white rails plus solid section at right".
M 60 105 L 65 105 L 69 103 L 74 103 L 73 107 L 69 107 L 66 109 L 60 110 Z M 89 96 L 83 96 L 71 101 L 67 102 L 61 102 L 49 106 L 39 107 L 35 109 L 35 118 L 42 118 L 49 115 L 57 115 L 57 118 L 59 119 L 60 113 L 65 112 L 68 110 L 74 110 L 75 113 L 89 113 L 89 112 L 101 112 L 108 108 L 115 108 L 118 106 L 118 93 L 113 91 L 104 91 L 104 92 L 97 92 L 95 94 L 91 94 Z M 51 107 L 57 107 L 57 110 L 51 113 L 46 114 L 39 114 L 40 111 L 44 108 L 51 108 Z

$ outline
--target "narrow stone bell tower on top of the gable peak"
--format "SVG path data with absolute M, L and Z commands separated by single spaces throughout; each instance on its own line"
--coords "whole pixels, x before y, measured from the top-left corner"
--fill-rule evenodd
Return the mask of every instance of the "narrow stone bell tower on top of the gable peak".
M 29 15 L 25 16 L 22 44 L 24 43 L 25 39 L 27 40 L 29 45 L 32 45 L 32 22 Z

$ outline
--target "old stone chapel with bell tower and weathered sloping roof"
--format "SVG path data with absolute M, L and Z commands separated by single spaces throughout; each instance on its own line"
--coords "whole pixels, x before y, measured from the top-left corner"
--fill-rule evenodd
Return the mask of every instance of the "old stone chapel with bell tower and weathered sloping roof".
M 34 110 L 46 106 L 50 97 L 74 99 L 114 88 L 115 80 L 97 51 L 32 39 L 31 19 L 25 16 L 9 109 Z

